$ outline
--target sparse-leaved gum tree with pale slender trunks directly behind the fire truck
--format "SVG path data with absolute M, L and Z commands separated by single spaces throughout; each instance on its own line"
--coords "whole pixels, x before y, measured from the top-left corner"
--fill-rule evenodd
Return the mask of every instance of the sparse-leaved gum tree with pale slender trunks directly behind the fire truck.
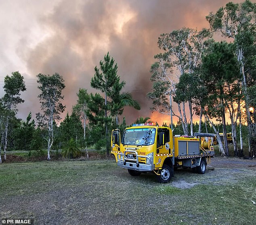
M 158 38 L 158 47 L 164 53 L 155 55 L 155 62 L 151 66 L 151 81 L 153 91 L 148 97 L 153 100 L 153 111 L 163 114 L 171 112 L 166 95 L 176 99 L 179 115 L 184 134 L 188 135 L 188 122 L 185 111 L 185 103 L 189 104 L 189 118 L 191 122 L 191 135 L 193 135 L 193 110 L 191 98 L 180 98 L 176 96 L 176 84 L 183 74 L 193 74 L 201 62 L 201 53 L 211 33 L 207 29 L 197 31 L 189 28 L 174 30 L 171 33 L 162 33 Z

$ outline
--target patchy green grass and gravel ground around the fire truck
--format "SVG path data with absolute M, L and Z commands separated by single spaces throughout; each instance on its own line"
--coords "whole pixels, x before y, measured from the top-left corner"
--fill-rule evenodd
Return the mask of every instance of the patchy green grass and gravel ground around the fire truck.
M 254 225 L 256 161 L 216 157 L 168 184 L 131 177 L 113 160 L 3 163 L 0 219 L 36 225 Z

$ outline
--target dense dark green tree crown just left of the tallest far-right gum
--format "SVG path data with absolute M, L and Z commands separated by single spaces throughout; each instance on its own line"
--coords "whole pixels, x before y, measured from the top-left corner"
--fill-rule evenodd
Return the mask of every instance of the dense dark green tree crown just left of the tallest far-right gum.
M 237 94 L 235 82 L 239 78 L 233 44 L 213 43 L 202 56 L 201 66 L 201 79 L 206 87 L 202 103 L 210 117 L 218 118 L 225 113 L 225 102 Z

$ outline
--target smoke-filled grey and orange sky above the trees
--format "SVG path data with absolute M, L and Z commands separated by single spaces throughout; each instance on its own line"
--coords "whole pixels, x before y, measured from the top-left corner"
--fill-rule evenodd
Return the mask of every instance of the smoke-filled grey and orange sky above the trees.
M 36 75 L 63 76 L 66 111 L 71 114 L 79 88 L 90 87 L 94 67 L 109 52 L 118 64 L 118 75 L 126 81 L 141 110 L 126 107 L 123 116 L 131 124 L 150 117 L 170 123 L 170 116 L 153 113 L 146 95 L 151 91 L 149 72 L 158 54 L 161 33 L 189 27 L 209 28 L 205 17 L 225 6 L 227 0 L 9 0 L 0 1 L 0 97 L 4 77 L 19 71 L 27 90 L 21 94 L 17 117 L 35 118 L 40 111 Z M 233 2 L 242 2 L 234 0 Z M 256 2 L 256 0 L 252 1 Z M 174 104 L 173 104 L 174 105 Z M 175 105 L 174 111 L 176 110 Z M 122 121 L 122 116 L 121 116 Z M 174 118 L 174 122 L 177 119 Z

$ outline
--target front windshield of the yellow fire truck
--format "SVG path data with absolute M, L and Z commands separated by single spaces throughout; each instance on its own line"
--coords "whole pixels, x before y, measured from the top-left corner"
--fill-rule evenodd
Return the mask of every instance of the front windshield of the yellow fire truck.
M 124 132 L 122 144 L 151 145 L 155 141 L 155 128 L 134 128 Z

